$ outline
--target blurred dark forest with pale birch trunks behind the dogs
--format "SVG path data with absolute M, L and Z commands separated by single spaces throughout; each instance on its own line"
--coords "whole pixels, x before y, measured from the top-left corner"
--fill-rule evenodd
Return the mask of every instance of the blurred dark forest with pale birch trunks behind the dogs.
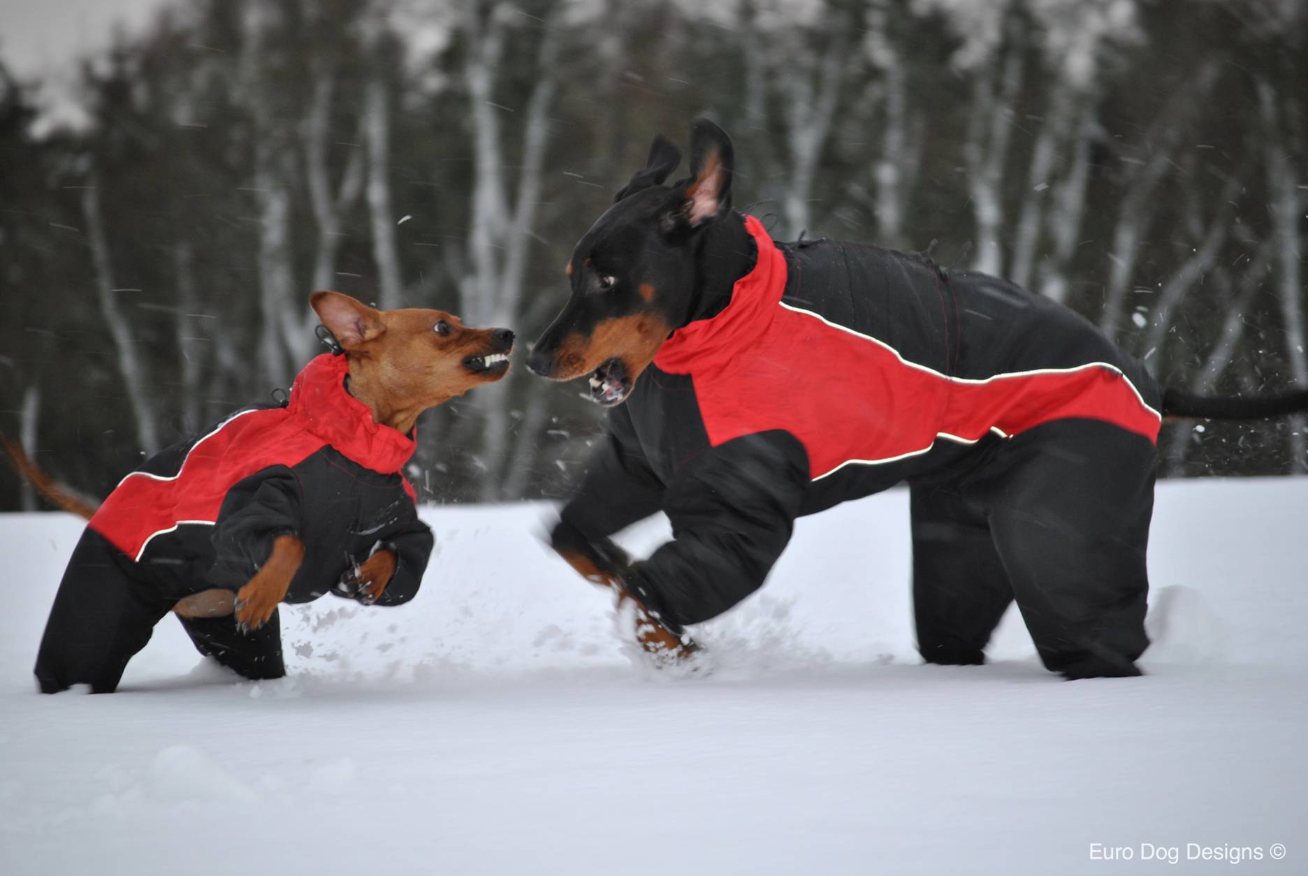
M 650 137 L 701 112 L 774 237 L 934 242 L 1169 383 L 1308 386 L 1305 8 L 178 0 L 86 59 L 81 124 L 0 67 L 0 430 L 103 496 L 288 386 L 315 289 L 530 339 Z M 557 494 L 599 416 L 577 395 L 519 367 L 429 413 L 424 498 Z M 1301 418 L 1162 446 L 1168 475 L 1308 469 Z

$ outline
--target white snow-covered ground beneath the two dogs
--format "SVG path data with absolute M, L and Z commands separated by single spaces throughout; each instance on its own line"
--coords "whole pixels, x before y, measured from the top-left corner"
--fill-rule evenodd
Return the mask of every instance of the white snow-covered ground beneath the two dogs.
M 906 505 L 800 520 L 708 677 L 632 665 L 544 506 L 439 507 L 413 604 L 284 609 L 289 677 L 166 618 L 109 697 L 33 692 L 78 522 L 0 516 L 0 873 L 1308 872 L 1308 479 L 1159 490 L 1131 680 L 1057 680 L 1011 615 L 918 665 Z

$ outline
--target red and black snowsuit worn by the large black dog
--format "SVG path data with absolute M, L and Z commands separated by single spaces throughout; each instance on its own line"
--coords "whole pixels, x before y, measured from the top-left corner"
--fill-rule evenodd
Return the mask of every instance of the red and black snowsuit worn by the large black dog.
M 980 663 L 1016 599 L 1050 669 L 1135 673 L 1162 392 L 1073 311 L 872 246 L 776 244 L 659 349 L 562 511 L 591 545 L 658 510 L 629 586 L 672 625 L 760 587 L 793 520 L 912 489 L 918 646 Z

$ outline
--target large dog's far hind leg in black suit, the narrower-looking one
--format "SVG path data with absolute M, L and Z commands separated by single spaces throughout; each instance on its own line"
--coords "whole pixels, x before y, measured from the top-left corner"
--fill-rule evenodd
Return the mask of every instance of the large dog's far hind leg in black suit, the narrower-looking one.
M 952 486 L 914 485 L 913 616 L 927 663 L 985 663 L 1012 587 L 985 515 Z

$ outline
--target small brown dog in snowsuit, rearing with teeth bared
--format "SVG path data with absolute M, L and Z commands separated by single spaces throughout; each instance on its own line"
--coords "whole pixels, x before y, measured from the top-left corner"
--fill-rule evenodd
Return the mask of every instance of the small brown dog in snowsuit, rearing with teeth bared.
M 403 476 L 428 408 L 501 379 L 513 332 L 437 310 L 381 311 L 318 292 L 336 354 L 281 407 L 247 408 L 169 447 L 98 510 L 5 442 L 56 505 L 89 514 L 37 659 L 42 690 L 114 690 L 169 611 L 201 654 L 250 679 L 284 675 L 277 605 L 328 590 L 396 605 L 417 591 L 432 533 Z

